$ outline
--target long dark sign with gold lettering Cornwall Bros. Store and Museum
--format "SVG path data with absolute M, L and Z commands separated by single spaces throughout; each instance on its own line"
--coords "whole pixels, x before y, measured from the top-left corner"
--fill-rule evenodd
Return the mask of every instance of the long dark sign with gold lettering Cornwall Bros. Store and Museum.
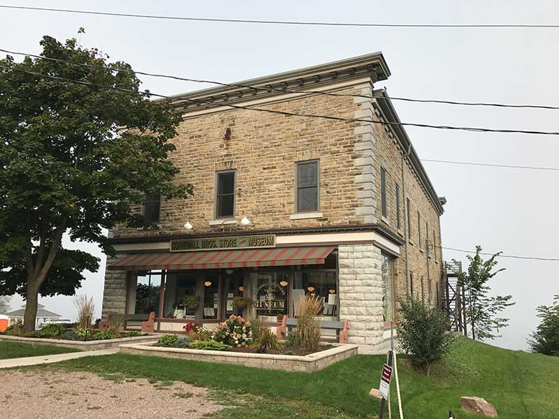
M 200 237 L 170 241 L 170 251 L 257 249 L 275 247 L 275 234 L 228 237 Z

